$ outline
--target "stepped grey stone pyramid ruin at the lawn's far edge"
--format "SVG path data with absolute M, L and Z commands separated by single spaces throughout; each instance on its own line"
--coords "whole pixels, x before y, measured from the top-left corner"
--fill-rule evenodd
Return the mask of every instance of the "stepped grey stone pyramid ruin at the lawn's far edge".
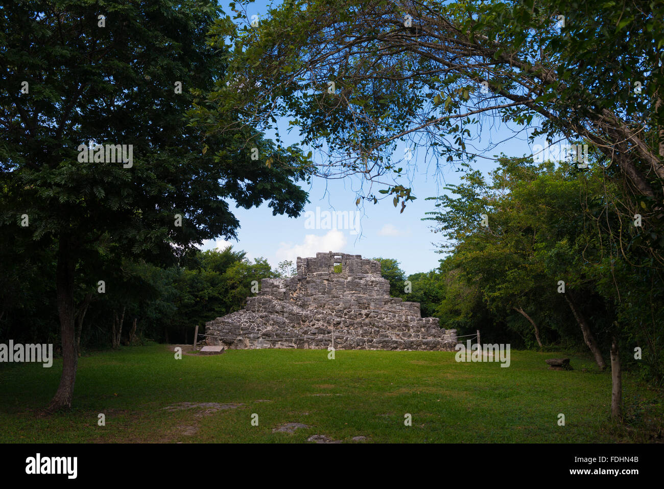
M 264 278 L 246 307 L 205 323 L 208 345 L 230 348 L 446 350 L 456 330 L 390 297 L 380 262 L 359 254 L 297 258 L 297 275 Z M 333 343 L 334 342 L 334 343 Z

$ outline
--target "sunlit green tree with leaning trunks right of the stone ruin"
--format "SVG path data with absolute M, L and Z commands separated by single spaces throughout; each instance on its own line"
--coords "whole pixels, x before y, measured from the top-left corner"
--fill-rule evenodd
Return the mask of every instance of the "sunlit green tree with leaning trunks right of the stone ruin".
M 584 229 L 582 209 L 574 204 L 579 182 L 550 163 L 536 166 L 519 159 L 502 160 L 491 173 L 491 183 L 478 171 L 468 171 L 462 179 L 468 183 L 448 187 L 460 197 L 437 199 L 436 206 L 445 211 L 430 213 L 434 217 L 428 219 L 436 221 L 453 243 L 444 248 L 461 258 L 463 270 L 478 284 L 487 306 L 503 316 L 511 311 L 521 314 L 533 326 L 541 348 L 539 326 L 526 309 L 533 312 L 547 302 L 558 303 L 558 280 L 581 274 L 576 246 L 560 255 Z M 552 256 L 560 257 L 560 262 Z M 568 282 L 573 280 L 580 283 Z M 563 292 L 603 369 L 604 359 L 584 314 L 570 299 L 572 291 Z

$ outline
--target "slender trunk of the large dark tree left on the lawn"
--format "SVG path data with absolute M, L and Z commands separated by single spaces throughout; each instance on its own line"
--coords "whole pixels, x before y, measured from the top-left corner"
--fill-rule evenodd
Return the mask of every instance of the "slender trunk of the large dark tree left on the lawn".
M 68 236 L 60 237 L 58 246 L 58 264 L 56 268 L 56 298 L 58 302 L 58 315 L 60 316 L 60 339 L 62 340 L 62 377 L 60 385 L 47 411 L 72 407 L 74 395 L 74 382 L 76 381 L 76 367 L 78 365 L 78 352 L 74 338 L 74 252 Z

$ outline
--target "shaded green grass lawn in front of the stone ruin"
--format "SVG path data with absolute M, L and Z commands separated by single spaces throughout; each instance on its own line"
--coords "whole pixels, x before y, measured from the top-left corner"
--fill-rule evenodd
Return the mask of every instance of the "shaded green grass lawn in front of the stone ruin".
M 454 352 L 256 349 L 183 355 L 167 345 L 125 347 L 79 359 L 74 409 L 42 416 L 62 361 L 0 365 L 0 442 L 643 441 L 661 392 L 623 375 L 629 423 L 608 421 L 611 379 L 572 355 L 574 371 L 512 351 L 511 366 L 457 363 Z M 569 356 L 569 355 L 566 355 Z M 587 371 L 582 371 L 587 369 Z M 219 406 L 165 409 L 178 403 Z M 235 406 L 229 406 L 235 405 Z M 98 414 L 106 426 L 98 426 Z M 412 426 L 404 415 L 412 415 Z M 565 425 L 558 425 L 558 414 Z M 252 426 L 252 415 L 258 426 Z M 303 423 L 294 433 L 273 433 Z

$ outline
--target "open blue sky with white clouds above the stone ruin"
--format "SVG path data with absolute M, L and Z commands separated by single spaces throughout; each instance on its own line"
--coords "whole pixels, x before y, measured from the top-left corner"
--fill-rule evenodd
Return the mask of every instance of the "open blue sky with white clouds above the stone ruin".
M 230 13 L 226 1 L 221 5 Z M 256 13 L 264 17 L 266 13 L 264 5 L 265 2 L 250 4 L 248 15 Z M 279 123 L 284 142 L 286 144 L 297 142 L 296 131 L 293 130 L 290 135 L 286 135 L 288 122 L 279 121 Z M 477 149 L 504 141 L 484 153 L 486 157 L 493 157 L 501 151 L 507 155 L 519 156 L 531 153 L 525 132 L 512 137 L 513 132 L 499 122 L 485 124 L 480 136 L 480 140 L 476 142 Z M 402 148 L 399 150 L 402 151 Z M 238 242 L 226 243 L 221 239 L 208 241 L 204 243 L 203 249 L 231 244 L 235 249 L 245 250 L 250 259 L 266 258 L 273 267 L 282 260 L 295 262 L 297 256 L 315 256 L 316 252 L 336 251 L 361 254 L 367 258 L 376 256 L 396 258 L 406 274 L 432 270 L 438 266 L 438 260 L 442 255 L 436 252 L 434 245 L 440 241 L 440 235 L 432 233 L 430 221 L 422 221 L 422 218 L 426 217 L 426 212 L 435 210 L 434 202 L 425 199 L 441 195 L 446 183 L 459 183 L 460 173 L 455 171 L 454 167 L 446 166 L 436 175 L 434 168 L 426 168 L 423 151 L 419 153 L 414 151 L 413 156 L 410 163 L 416 163 L 418 170 L 414 173 L 412 184 L 406 186 L 412 187 L 417 199 L 408 203 L 403 213 L 399 213 L 400 205 L 398 208 L 392 205 L 392 199 L 385 199 L 376 205 L 365 205 L 364 209 L 360 210 L 359 234 L 355 234 L 354 229 L 307 229 L 307 217 L 304 214 L 295 219 L 273 216 L 270 208 L 262 205 L 252 209 L 235 209 L 234 213 L 241 226 L 238 230 Z M 316 161 L 315 155 L 314 161 Z M 495 167 L 495 161 L 480 158 L 473 163 L 473 167 L 486 173 Z M 310 201 L 305 206 L 305 211 L 315 213 L 317 207 L 320 213 L 323 211 L 350 213 L 359 210 L 355 207 L 358 196 L 353 191 L 357 188 L 357 181 L 314 179 L 311 186 L 305 185 L 303 188 L 309 193 Z M 232 203 L 231 208 L 233 207 Z M 327 227 L 325 221 L 321 221 L 320 224 L 322 226 L 319 228 Z

